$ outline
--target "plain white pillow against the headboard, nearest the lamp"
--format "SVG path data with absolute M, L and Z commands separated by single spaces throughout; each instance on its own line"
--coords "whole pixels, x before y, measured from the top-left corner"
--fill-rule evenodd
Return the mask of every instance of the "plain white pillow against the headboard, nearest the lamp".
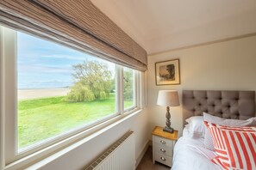
M 203 124 L 203 116 L 193 116 L 185 120 L 188 124 L 185 127 L 188 129 L 190 137 L 204 137 L 205 126 Z

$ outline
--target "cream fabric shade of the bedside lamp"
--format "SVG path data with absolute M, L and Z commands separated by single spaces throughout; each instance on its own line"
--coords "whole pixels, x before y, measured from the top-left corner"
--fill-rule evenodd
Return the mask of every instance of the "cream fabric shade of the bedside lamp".
M 179 106 L 178 92 L 176 90 L 159 90 L 157 104 L 159 106 Z

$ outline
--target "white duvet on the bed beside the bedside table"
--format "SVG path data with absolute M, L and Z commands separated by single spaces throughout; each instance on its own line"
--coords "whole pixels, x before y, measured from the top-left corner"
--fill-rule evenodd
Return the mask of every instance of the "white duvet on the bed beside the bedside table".
M 210 160 L 215 152 L 204 149 L 203 138 L 180 137 L 174 147 L 172 170 L 220 170 Z

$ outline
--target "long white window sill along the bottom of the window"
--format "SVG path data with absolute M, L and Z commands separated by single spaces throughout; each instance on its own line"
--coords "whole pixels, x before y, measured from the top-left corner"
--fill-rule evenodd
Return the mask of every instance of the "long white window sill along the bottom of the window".
M 87 143 L 91 139 L 103 134 L 105 131 L 109 131 L 109 129 L 115 127 L 117 124 L 121 124 L 123 121 L 127 120 L 128 118 L 134 117 L 134 115 L 138 114 L 141 112 L 141 109 L 134 109 L 132 112 L 127 112 L 125 114 L 116 116 L 115 118 L 111 118 L 108 121 L 102 123 L 102 124 L 97 124 L 95 127 L 92 127 L 88 130 L 85 130 L 81 132 L 80 134 L 76 135 L 75 137 L 72 137 L 75 142 L 71 144 L 66 144 L 66 140 L 61 141 L 59 143 L 55 143 L 46 149 L 41 149 L 40 151 L 28 155 L 18 161 L 12 162 L 9 165 L 7 165 L 4 170 L 11 170 L 11 169 L 19 169 L 21 167 L 27 167 L 26 169 L 32 170 L 32 169 L 38 169 L 46 166 L 50 162 L 58 159 L 62 155 L 66 155 L 72 149 L 76 149 L 79 146 L 83 145 L 84 143 Z M 61 149 L 58 149 L 60 146 L 64 145 Z M 58 149 L 58 151 L 54 151 Z M 45 157 L 44 155 L 50 155 Z M 28 164 L 32 166 L 28 167 Z

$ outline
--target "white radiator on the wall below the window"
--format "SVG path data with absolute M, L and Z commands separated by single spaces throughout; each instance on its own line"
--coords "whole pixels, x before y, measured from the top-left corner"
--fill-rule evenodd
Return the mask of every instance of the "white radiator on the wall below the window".
M 85 170 L 134 170 L 135 143 L 134 132 L 129 131 L 102 155 L 85 168 Z

